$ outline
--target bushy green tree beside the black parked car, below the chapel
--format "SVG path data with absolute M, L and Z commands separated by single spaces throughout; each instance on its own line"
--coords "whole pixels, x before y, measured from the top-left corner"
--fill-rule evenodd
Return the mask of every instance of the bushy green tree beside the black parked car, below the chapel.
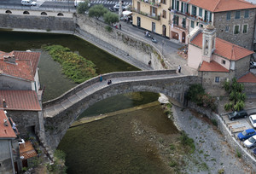
M 244 90 L 243 84 L 239 84 L 236 78 L 233 78 L 230 82 L 224 83 L 224 90 L 229 94 L 229 103 L 224 105 L 226 111 L 240 111 L 245 106 L 246 95 L 242 93 Z

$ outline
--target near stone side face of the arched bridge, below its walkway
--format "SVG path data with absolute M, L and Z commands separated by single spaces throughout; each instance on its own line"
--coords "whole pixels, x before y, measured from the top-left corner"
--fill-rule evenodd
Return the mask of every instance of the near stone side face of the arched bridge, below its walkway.
M 85 96 L 79 102 L 74 103 L 72 107 L 66 108 L 63 112 L 56 113 L 54 117 L 44 118 L 47 144 L 50 148 L 55 149 L 59 142 L 61 142 L 61 138 L 66 134 L 69 126 L 79 117 L 79 114 L 83 113 L 85 109 L 94 103 L 105 98 L 127 92 L 150 91 L 163 93 L 177 102 L 183 103 L 184 92 L 189 89 L 189 84 L 195 84 L 196 81 L 198 81 L 198 77 L 184 76 L 111 84 L 89 96 Z

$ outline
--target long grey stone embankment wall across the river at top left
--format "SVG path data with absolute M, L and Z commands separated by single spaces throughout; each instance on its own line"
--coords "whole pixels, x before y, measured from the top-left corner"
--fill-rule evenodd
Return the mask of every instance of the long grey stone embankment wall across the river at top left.
M 0 14 L 0 28 L 74 31 L 75 24 L 73 18 Z

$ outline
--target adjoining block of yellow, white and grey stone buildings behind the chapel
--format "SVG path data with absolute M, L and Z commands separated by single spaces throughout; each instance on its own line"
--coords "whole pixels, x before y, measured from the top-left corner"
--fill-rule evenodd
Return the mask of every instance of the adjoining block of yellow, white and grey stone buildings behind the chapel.
M 196 26 L 210 22 L 217 37 L 253 48 L 255 8 L 243 0 L 133 0 L 133 25 L 189 44 Z

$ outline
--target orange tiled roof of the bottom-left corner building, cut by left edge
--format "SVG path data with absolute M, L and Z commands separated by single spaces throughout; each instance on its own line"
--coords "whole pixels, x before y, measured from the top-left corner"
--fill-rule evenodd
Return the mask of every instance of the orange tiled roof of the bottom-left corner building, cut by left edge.
M 7 120 L 8 126 L 4 125 L 3 119 Z M 12 128 L 12 125 L 9 123 L 9 119 L 6 117 L 6 114 L 4 113 L 3 109 L 0 109 L 0 138 L 15 138 L 16 134 L 15 131 Z

